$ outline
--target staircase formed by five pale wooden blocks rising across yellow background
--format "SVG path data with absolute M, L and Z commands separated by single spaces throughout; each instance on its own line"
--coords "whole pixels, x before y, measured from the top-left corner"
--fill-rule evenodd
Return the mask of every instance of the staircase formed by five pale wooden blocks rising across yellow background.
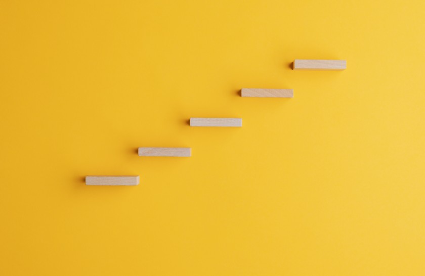
M 345 60 L 294 60 L 293 70 L 344 70 Z M 241 97 L 293 98 L 293 89 L 242 88 Z M 242 127 L 241 118 L 190 118 L 190 126 Z M 191 148 L 139 148 L 139 156 L 190 157 Z M 136 186 L 139 175 L 88 175 L 86 185 Z

